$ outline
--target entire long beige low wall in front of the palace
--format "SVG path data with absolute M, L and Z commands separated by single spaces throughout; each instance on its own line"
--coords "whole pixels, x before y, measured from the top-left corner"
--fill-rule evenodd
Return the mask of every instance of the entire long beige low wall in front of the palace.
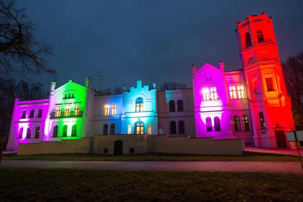
M 189 138 L 166 135 L 94 135 L 81 139 L 20 143 L 18 155 L 94 153 L 114 154 L 116 140 L 122 141 L 124 155 L 143 153 L 242 155 L 242 139 Z M 121 142 L 120 142 L 121 143 Z

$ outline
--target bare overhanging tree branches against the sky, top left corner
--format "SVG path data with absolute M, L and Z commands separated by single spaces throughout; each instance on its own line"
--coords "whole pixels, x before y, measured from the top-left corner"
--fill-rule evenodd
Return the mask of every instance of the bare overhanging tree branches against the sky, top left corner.
M 25 8 L 17 9 L 15 4 L 14 0 L 0 0 L 0 75 L 26 72 L 54 75 L 54 69 L 47 68 L 43 58 L 52 54 L 52 47 L 36 41 L 34 25 L 28 21 Z

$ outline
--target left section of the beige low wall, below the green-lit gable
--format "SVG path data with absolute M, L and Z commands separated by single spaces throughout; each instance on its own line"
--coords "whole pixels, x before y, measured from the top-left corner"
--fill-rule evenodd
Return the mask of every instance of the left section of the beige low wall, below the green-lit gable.
M 93 137 L 81 139 L 63 139 L 56 142 L 21 143 L 18 155 L 92 153 Z

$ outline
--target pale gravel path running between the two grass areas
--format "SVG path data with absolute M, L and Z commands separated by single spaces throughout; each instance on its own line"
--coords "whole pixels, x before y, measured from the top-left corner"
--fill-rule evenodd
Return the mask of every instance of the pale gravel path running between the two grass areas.
M 70 168 L 144 171 L 268 172 L 303 174 L 299 162 L 244 161 L 20 161 L 3 160 L 1 167 Z

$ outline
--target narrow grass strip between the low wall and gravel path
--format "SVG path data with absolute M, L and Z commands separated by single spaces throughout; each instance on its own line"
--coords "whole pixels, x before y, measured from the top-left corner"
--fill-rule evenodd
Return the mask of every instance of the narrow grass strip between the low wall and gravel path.
M 48 161 L 285 161 L 298 162 L 294 156 L 270 155 L 245 152 L 243 156 L 184 155 L 184 154 L 139 154 L 139 155 L 94 155 L 94 154 L 48 154 L 3 157 L 5 160 Z

